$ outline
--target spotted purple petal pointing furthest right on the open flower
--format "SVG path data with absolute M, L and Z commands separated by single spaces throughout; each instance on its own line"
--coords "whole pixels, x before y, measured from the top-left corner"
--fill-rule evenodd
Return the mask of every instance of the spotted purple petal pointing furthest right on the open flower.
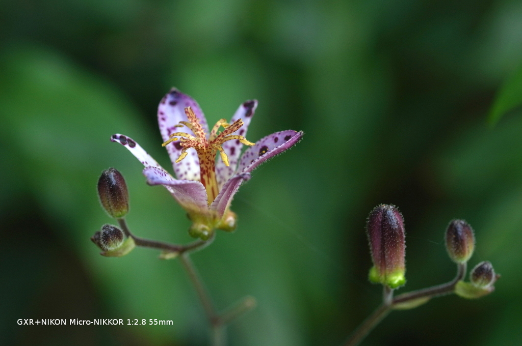
M 241 156 L 237 169 L 238 174 L 253 171 L 269 158 L 290 149 L 302 137 L 303 131 L 286 130 L 272 133 L 260 139 Z

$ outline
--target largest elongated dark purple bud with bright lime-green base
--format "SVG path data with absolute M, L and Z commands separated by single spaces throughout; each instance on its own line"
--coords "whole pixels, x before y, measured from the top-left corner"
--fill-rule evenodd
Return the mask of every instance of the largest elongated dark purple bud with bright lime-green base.
M 366 223 L 373 267 L 370 281 L 397 288 L 406 283 L 404 220 L 393 205 L 376 206 Z

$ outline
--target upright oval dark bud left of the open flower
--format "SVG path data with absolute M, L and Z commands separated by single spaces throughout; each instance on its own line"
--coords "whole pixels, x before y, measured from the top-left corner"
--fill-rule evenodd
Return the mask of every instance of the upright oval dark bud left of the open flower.
M 127 184 L 117 169 L 109 168 L 102 172 L 98 179 L 98 196 L 110 216 L 119 219 L 127 214 L 129 210 Z

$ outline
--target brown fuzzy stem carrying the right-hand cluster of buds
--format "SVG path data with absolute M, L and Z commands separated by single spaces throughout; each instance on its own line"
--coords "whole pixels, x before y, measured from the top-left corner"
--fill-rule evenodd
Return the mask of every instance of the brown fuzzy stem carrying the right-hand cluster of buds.
M 397 304 L 407 303 L 420 298 L 433 298 L 444 294 L 453 293 L 455 285 L 466 276 L 466 263 L 457 264 L 457 276 L 447 283 L 433 286 L 417 291 L 407 292 L 393 297 L 393 290 L 384 285 L 383 303 L 377 308 L 364 322 L 355 329 L 349 339 L 343 343 L 343 346 L 358 345 L 372 329 L 383 320 L 386 315 L 392 311 Z

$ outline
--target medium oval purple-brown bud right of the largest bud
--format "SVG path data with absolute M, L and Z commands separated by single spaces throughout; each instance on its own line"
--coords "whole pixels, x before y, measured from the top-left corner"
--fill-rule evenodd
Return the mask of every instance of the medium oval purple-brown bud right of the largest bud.
M 464 220 L 453 220 L 446 230 L 446 250 L 455 263 L 466 263 L 475 248 L 473 229 Z

